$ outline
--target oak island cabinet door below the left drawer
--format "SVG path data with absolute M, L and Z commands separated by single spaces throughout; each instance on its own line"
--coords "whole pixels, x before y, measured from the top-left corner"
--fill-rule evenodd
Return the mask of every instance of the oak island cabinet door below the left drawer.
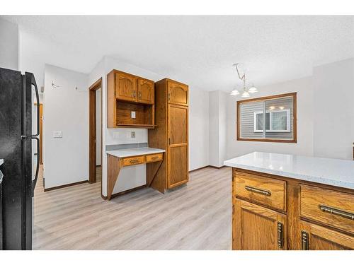
M 287 249 L 286 216 L 248 201 L 234 199 L 232 249 Z

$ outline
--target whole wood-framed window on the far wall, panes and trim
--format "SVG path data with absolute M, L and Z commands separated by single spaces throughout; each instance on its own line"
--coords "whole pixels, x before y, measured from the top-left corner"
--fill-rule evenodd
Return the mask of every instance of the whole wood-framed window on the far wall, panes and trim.
M 296 93 L 237 102 L 237 140 L 296 143 Z

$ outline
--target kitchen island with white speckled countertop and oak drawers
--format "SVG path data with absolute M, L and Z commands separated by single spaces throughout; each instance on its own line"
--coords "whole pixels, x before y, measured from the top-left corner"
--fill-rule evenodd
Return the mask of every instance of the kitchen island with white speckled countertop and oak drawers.
M 354 161 L 253 152 L 224 165 L 233 249 L 354 249 Z

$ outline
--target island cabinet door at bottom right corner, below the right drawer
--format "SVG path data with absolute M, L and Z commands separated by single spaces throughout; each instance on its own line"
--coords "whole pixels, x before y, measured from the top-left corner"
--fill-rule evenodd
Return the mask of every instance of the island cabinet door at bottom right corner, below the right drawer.
M 300 242 L 303 250 L 345 250 L 354 249 L 354 237 L 300 221 Z

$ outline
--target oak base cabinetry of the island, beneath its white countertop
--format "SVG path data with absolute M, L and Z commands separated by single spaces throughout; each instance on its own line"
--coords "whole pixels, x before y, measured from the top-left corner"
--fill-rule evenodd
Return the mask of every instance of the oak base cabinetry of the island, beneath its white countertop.
M 354 191 L 232 169 L 232 249 L 354 249 Z

